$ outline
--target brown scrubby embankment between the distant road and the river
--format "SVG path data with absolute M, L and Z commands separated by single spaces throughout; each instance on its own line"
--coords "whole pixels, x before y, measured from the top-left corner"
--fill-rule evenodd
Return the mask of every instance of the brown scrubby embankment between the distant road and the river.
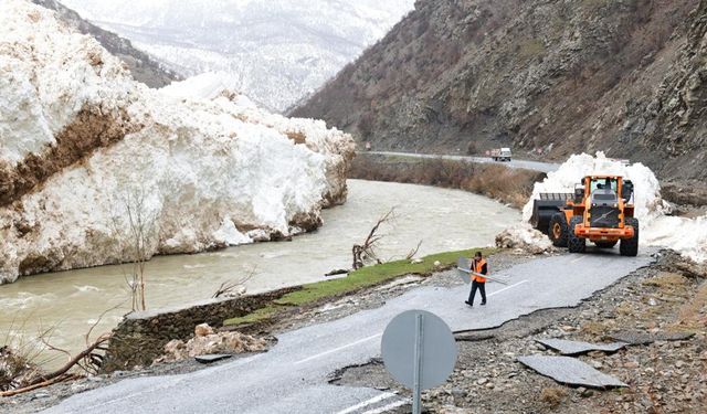
M 362 153 L 354 160 L 349 177 L 460 189 L 520 209 L 546 174 L 502 164 Z

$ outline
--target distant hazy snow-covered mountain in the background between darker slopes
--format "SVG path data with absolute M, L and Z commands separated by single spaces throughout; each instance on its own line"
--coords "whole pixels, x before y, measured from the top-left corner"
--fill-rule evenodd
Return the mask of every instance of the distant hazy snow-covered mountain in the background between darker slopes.
M 320 87 L 411 11 L 414 0 L 62 0 L 186 76 L 283 112 Z

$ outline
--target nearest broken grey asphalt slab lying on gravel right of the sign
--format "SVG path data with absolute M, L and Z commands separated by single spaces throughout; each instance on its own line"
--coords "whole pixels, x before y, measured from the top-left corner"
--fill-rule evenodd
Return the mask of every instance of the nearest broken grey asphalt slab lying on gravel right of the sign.
M 518 357 L 518 362 L 562 384 L 594 389 L 629 386 L 622 381 L 570 357 L 528 355 Z

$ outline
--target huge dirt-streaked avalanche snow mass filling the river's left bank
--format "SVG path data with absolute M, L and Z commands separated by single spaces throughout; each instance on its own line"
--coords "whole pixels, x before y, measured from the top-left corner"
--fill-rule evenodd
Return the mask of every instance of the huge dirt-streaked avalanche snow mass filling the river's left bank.
M 0 2 L 0 283 L 129 259 L 136 222 L 147 255 L 193 253 L 346 200 L 348 135 L 199 87 L 149 89 L 51 11 Z

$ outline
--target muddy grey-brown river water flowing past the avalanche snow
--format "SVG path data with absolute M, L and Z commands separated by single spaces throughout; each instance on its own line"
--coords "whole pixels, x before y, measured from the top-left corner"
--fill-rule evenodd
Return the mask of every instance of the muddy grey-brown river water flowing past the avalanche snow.
M 249 293 L 321 280 L 331 269 L 350 267 L 351 246 L 393 206 L 395 220 L 382 229 L 386 237 L 379 251 L 386 259 L 404 257 L 419 241 L 420 255 L 490 245 L 499 231 L 520 219 L 516 210 L 464 191 L 351 180 L 348 202 L 325 211 L 320 230 L 292 242 L 154 258 L 146 270 L 148 307 L 207 299 L 221 283 L 252 269 Z M 81 349 L 83 335 L 102 312 L 120 305 L 103 318 L 96 332 L 109 330 L 129 310 L 125 272 L 122 266 L 103 266 L 0 286 L 0 346 L 8 340 L 31 343 L 38 331 L 53 328 L 54 346 Z

